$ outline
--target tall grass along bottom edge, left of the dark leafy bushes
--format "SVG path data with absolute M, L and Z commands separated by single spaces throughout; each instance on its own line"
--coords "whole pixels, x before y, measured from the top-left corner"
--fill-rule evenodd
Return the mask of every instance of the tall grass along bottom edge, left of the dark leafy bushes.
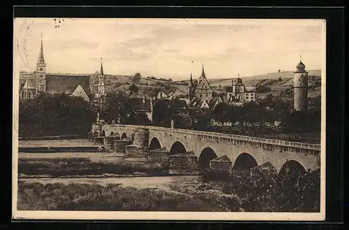
M 236 211 L 236 202 L 120 185 L 19 182 L 18 210 Z M 228 205 L 230 203 L 230 206 Z M 234 205 L 232 205 L 234 204 Z

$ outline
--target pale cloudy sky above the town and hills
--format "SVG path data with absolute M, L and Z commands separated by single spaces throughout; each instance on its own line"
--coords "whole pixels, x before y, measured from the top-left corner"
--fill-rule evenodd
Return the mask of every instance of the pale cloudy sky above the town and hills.
M 59 26 L 59 27 L 58 27 Z M 35 71 L 43 34 L 48 73 L 234 78 L 322 69 L 322 20 L 16 18 L 15 71 Z

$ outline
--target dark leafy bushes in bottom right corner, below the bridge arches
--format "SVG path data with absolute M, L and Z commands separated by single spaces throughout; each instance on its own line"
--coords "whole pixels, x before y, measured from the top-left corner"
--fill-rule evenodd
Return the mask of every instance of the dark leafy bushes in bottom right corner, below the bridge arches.
M 233 175 L 206 171 L 202 180 L 223 182 L 222 192 L 237 194 L 239 205 L 249 212 L 320 212 L 320 175 L 309 173 L 297 178 L 276 175 L 271 180 L 249 175 L 239 171 Z

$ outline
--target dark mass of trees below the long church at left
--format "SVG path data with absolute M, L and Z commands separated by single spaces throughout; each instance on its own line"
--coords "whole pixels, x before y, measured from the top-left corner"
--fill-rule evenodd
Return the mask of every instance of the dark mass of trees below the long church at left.
M 80 134 L 91 130 L 96 113 L 84 99 L 67 94 L 39 94 L 20 100 L 20 136 Z

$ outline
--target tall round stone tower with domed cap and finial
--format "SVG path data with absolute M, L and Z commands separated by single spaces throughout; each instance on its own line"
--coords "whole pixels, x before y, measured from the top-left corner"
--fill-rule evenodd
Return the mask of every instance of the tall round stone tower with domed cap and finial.
M 302 60 L 296 68 L 297 70 L 293 72 L 294 109 L 302 111 L 308 106 L 308 72 Z

